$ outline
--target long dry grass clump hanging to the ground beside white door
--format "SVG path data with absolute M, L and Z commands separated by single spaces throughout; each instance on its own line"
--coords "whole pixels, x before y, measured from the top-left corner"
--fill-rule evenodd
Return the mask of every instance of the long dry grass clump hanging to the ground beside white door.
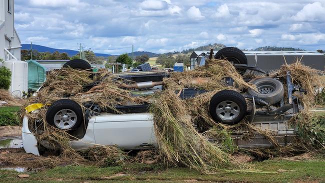
M 161 92 L 150 109 L 159 153 L 165 163 L 185 165 L 204 173 L 234 167 L 228 153 L 196 131 L 185 103 L 173 91 Z

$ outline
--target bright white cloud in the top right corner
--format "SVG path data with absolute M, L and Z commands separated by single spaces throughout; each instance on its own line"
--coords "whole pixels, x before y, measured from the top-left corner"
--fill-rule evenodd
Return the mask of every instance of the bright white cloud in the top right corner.
M 293 19 L 296 21 L 322 21 L 325 20 L 324 16 L 325 6 L 320 2 L 313 2 L 306 4 L 297 12 Z

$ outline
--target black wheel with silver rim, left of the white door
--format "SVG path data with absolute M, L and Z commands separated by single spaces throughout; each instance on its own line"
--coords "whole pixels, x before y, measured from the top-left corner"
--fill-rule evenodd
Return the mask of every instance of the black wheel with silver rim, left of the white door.
M 58 129 L 77 129 L 83 122 L 81 106 L 70 99 L 57 100 L 48 107 L 46 122 Z

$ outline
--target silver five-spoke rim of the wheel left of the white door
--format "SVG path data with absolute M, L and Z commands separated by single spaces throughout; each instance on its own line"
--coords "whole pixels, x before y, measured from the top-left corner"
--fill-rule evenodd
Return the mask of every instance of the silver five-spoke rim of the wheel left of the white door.
M 54 124 L 60 129 L 69 129 L 76 123 L 77 116 L 73 110 L 62 109 L 54 115 Z

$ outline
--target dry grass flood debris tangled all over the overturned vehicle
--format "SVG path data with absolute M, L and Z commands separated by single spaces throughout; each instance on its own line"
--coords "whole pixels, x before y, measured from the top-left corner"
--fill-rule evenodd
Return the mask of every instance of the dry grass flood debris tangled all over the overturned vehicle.
M 307 94 L 303 96 L 304 98 L 312 100 L 315 97 L 314 87 L 320 87 L 317 70 L 296 62 L 291 65 L 283 65 L 278 72 L 283 73 L 284 71 L 291 72 L 294 84 L 308 90 Z M 225 77 L 231 77 L 234 84 L 231 86 L 225 84 Z M 93 82 L 96 82 L 95 86 L 91 85 Z M 100 72 L 93 76 L 91 72 L 63 68 L 49 73 L 44 87 L 36 97 L 31 97 L 27 103 L 50 104 L 63 97 L 69 97 L 80 103 L 84 110 L 85 107 L 82 105 L 84 102 L 96 103 L 103 108 L 113 110 L 117 104 L 148 103 L 150 112 L 154 116 L 155 135 L 158 142 L 158 154 L 154 157 L 164 164 L 187 166 L 203 173 L 241 167 L 242 164 L 236 162 L 231 155 L 240 151 L 232 144 L 230 134 L 235 131 L 248 131 L 247 138 L 256 132 L 267 136 L 275 146 L 273 150 L 241 150 L 259 154 L 259 156 L 267 156 L 267 153 L 275 154 L 275 152 L 277 154 L 284 152 L 295 154 L 297 150 L 305 152 L 309 145 L 315 144 L 318 144 L 315 148 L 324 147 L 324 131 L 320 128 L 313 129 L 313 126 L 318 126 L 317 121 L 312 123 L 312 120 L 304 113 L 297 114 L 291 120 L 291 124 L 298 125 L 298 129 L 307 129 L 301 132 L 301 138 L 306 139 L 302 143 L 303 145 L 309 145 L 303 148 L 300 148 L 300 145 L 299 149 L 296 146 L 293 147 L 295 145 L 293 143 L 291 146 L 280 147 L 271 132 L 255 128 L 245 119 L 231 126 L 212 120 L 208 112 L 208 103 L 211 96 L 217 91 L 233 89 L 242 92 L 248 88 L 256 89 L 256 86 L 245 82 L 242 76 L 236 72 L 234 66 L 225 60 L 206 60 L 205 66 L 192 71 L 171 73 L 169 78 L 163 80 L 165 89 L 148 96 L 132 96 L 132 91 L 123 87 L 125 83 L 132 83 L 132 81 L 118 79 L 106 72 Z M 86 85 L 90 85 L 90 89 L 85 89 Z M 186 87 L 196 87 L 207 92 L 198 97 L 181 100 L 178 95 Z M 311 105 L 306 99 L 303 99 L 303 102 L 306 106 Z M 38 133 L 33 131 L 37 140 L 49 141 L 53 147 L 59 145 L 62 149 L 61 156 L 84 157 L 98 161 L 99 165 L 105 166 L 118 164 L 120 157 L 125 155 L 114 146 L 94 146 L 83 151 L 73 150 L 68 141 L 75 137 L 64 130 L 48 125 L 45 121 L 46 109 L 47 105 L 39 109 L 37 113 L 25 113 L 24 115 L 34 122 L 30 124 L 32 130 L 32 126 L 35 124 L 38 126 Z M 41 133 L 39 133 L 39 129 L 41 129 Z M 306 133 L 308 136 L 305 136 Z M 220 138 L 221 141 L 209 142 L 207 138 L 211 136 Z M 152 157 L 152 155 L 150 156 Z M 156 162 L 156 160 L 153 161 Z

